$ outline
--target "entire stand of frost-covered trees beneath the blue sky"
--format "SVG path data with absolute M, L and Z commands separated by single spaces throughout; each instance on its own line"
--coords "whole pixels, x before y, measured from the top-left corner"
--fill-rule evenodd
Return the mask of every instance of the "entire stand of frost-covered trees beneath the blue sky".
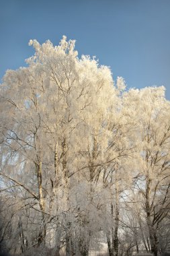
M 27 66 L 0 85 L 1 251 L 170 251 L 165 88 L 126 88 L 66 36 L 29 44 Z

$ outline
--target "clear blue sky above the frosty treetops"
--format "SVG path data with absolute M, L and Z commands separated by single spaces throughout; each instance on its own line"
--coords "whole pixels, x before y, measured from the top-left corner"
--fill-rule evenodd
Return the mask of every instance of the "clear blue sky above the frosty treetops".
M 162 86 L 170 100 L 170 0 L 0 0 L 0 78 L 34 55 L 30 39 L 77 40 L 128 87 Z

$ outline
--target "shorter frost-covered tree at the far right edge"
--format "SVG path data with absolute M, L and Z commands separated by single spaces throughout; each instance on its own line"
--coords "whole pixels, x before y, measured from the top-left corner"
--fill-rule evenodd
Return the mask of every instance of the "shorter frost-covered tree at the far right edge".
M 169 213 L 169 101 L 165 88 L 130 90 L 125 100 L 134 111 L 138 127 L 138 164 L 134 189 L 142 195 L 151 252 L 157 255 L 158 232 Z

